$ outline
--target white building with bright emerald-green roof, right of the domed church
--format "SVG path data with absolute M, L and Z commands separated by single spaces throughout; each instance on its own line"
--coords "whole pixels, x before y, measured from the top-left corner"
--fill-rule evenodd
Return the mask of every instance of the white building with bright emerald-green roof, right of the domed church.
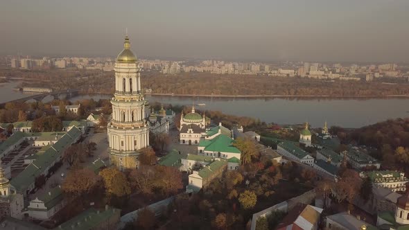
M 232 157 L 241 159 L 241 152 L 233 143 L 234 140 L 225 134 L 219 134 L 211 140 L 200 140 L 198 155 L 222 159 L 230 159 Z

